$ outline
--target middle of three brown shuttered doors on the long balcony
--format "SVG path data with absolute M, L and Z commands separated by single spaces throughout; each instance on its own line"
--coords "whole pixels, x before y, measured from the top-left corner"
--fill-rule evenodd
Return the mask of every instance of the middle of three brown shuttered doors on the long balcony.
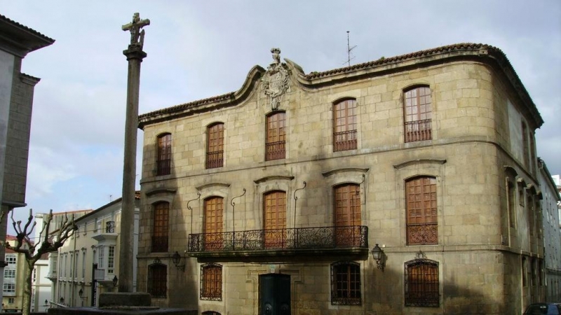
M 274 190 L 263 196 L 265 248 L 285 248 L 286 193 Z

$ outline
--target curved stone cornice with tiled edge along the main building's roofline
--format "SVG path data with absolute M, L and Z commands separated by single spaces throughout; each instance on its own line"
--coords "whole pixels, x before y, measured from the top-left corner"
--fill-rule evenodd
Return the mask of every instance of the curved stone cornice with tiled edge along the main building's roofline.
M 320 87 L 335 85 L 344 82 L 363 80 L 365 78 L 373 78 L 377 76 L 385 76 L 388 73 L 399 73 L 410 71 L 411 69 L 419 69 L 421 67 L 432 66 L 435 64 L 446 64 L 457 61 L 475 61 L 491 66 L 495 71 L 500 73 L 508 83 L 510 83 L 515 95 L 518 96 L 522 104 L 522 111 L 528 113 L 532 117 L 532 127 L 538 128 L 543 125 L 536 105 L 529 96 L 522 81 L 516 74 L 513 66 L 508 58 L 499 48 L 492 45 L 481 43 L 457 43 L 446 45 L 428 50 L 412 52 L 406 55 L 398 55 L 396 57 L 380 58 L 372 62 L 356 64 L 339 69 L 329 71 L 305 74 L 301 66 L 285 58 L 288 64 L 292 78 L 301 87 L 308 89 L 318 89 Z M 143 129 L 145 125 L 158 123 L 163 120 L 179 118 L 183 116 L 193 115 L 194 113 L 208 112 L 215 109 L 222 109 L 229 106 L 236 106 L 243 102 L 255 88 L 259 78 L 263 76 L 265 70 L 261 66 L 254 66 L 248 74 L 243 86 L 237 92 L 231 92 L 217 97 L 201 99 L 199 101 L 181 104 L 167 109 L 153 111 L 151 113 L 142 114 L 139 117 L 139 127 Z

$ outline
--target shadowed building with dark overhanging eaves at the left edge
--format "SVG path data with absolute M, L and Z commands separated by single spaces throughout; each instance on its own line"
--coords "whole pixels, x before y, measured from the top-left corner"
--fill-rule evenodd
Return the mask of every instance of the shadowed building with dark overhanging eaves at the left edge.
M 33 92 L 40 80 L 22 73 L 22 62 L 29 52 L 54 42 L 53 38 L 0 15 L 0 206 L 6 213 L 25 207 Z M 2 238 L 7 222 L 0 223 Z M 4 257 L 3 246 L 0 257 Z M 0 263 L 0 273 L 4 272 L 4 265 Z

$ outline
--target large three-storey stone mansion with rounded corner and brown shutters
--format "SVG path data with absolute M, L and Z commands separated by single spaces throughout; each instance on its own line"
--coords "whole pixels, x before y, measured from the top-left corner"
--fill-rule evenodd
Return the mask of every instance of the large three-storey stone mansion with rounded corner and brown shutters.
M 199 314 L 520 314 L 543 300 L 534 131 L 463 43 L 145 113 L 138 289 Z

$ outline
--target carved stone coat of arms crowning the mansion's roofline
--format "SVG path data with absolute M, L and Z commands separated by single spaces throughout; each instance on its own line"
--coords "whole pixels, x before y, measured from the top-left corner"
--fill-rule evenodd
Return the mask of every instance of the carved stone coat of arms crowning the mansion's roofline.
M 269 98 L 271 109 L 274 111 L 280 106 L 285 92 L 290 91 L 290 71 L 285 63 L 280 62 L 280 49 L 272 48 L 273 62 L 267 67 L 261 85 L 264 94 Z

